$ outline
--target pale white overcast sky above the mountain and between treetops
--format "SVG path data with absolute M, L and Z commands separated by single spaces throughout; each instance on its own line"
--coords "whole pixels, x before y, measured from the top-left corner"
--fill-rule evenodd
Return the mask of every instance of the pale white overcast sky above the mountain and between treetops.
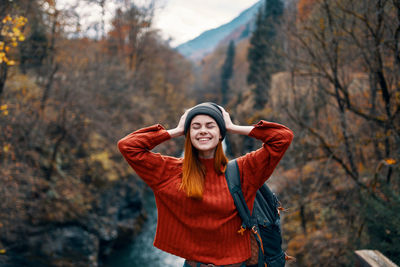
M 153 27 L 160 30 L 165 39 L 170 39 L 171 46 L 175 47 L 189 41 L 202 32 L 225 24 L 242 11 L 259 0 L 155 0 L 155 17 Z M 148 0 L 136 0 L 142 5 Z M 85 1 L 58 0 L 59 8 L 68 8 L 77 5 L 77 13 L 83 28 L 94 32 L 90 27 L 100 21 L 101 9 L 97 5 L 88 6 Z M 115 4 L 109 1 L 106 6 L 106 23 L 114 16 Z M 106 25 L 106 30 L 109 25 Z

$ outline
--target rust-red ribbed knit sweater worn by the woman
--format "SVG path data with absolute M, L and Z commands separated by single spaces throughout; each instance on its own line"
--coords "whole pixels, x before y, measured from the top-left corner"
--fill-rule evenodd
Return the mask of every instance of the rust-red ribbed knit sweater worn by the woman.
M 283 125 L 260 121 L 249 136 L 264 144 L 238 158 L 243 194 L 250 208 L 256 191 L 270 177 L 293 138 Z M 216 265 L 243 262 L 250 257 L 249 231 L 237 233 L 241 219 L 224 175 L 214 170 L 214 159 L 201 159 L 206 168 L 202 200 L 179 190 L 182 158 L 153 153 L 171 136 L 161 125 L 140 129 L 118 142 L 136 173 L 152 188 L 158 221 L 154 246 L 185 259 Z

